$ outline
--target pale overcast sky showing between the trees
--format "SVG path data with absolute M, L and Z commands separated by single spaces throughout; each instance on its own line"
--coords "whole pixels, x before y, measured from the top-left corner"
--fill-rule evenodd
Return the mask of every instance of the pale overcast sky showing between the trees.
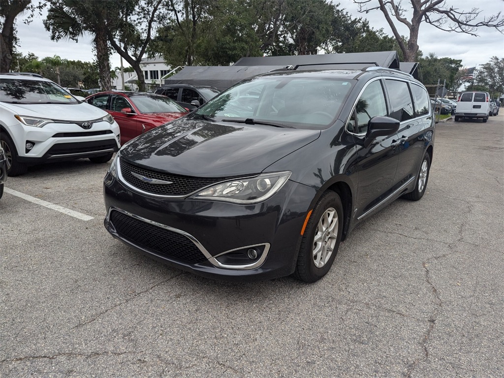
M 338 3 L 337 1 L 334 2 Z M 374 0 L 374 2 L 376 1 Z M 383 28 L 385 33 L 392 36 L 392 31 L 382 12 L 371 11 L 368 14 L 359 14 L 357 5 L 352 0 L 340 0 L 339 3 L 340 8 L 346 9 L 352 16 L 366 18 L 369 20 L 371 27 L 374 29 Z M 403 0 L 403 3 L 407 5 L 409 2 Z M 504 0 L 447 0 L 447 4 L 461 10 L 470 10 L 472 7 L 477 6 L 482 10 L 481 19 L 483 16 L 493 15 L 497 12 L 504 14 Z M 61 58 L 71 60 L 92 61 L 94 59 L 89 35 L 79 39 L 78 43 L 74 41 L 54 42 L 50 40 L 49 32 L 44 29 L 42 18 L 35 18 L 30 25 L 25 25 L 21 20 L 21 17 L 18 18 L 17 29 L 19 51 L 23 54 L 33 52 L 39 58 L 59 55 Z M 409 34 L 406 26 L 400 23 L 396 25 L 400 25 L 398 29 L 402 35 Z M 438 57 L 447 56 L 462 59 L 464 67 L 484 64 L 494 55 L 499 58 L 504 57 L 504 35 L 493 28 L 480 28 L 477 33 L 479 34 L 478 37 L 453 32 L 448 33 L 433 26 L 422 24 L 418 45 L 424 55 L 433 52 Z M 111 56 L 110 65 L 112 68 L 120 65 L 118 54 L 114 53 Z M 125 62 L 124 65 L 128 66 Z

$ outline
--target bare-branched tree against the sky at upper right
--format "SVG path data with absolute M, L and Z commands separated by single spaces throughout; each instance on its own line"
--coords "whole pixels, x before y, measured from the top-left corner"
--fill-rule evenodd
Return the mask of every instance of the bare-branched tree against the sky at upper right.
M 464 11 L 447 5 L 445 0 L 353 0 L 359 5 L 359 12 L 369 13 L 380 10 L 394 33 L 405 61 L 415 61 L 418 51 L 418 34 L 422 23 L 430 24 L 439 30 L 465 33 L 477 36 L 479 27 L 486 26 L 504 32 L 504 17 L 501 12 L 479 20 L 481 10 L 472 8 Z M 409 3 L 411 6 L 407 7 Z M 487 2 L 488 3 L 488 2 Z M 495 2 L 496 3 L 496 2 Z M 496 8 L 496 7 L 495 7 Z M 407 11 L 412 10 L 407 19 Z M 409 36 L 399 34 L 396 23 L 402 23 L 409 29 Z

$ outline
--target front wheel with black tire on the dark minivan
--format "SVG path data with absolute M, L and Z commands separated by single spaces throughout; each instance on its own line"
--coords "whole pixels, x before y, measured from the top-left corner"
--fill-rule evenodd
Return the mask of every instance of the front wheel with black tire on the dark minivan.
M 321 222 L 323 223 L 323 218 L 326 221 L 328 220 L 328 218 L 326 218 L 326 213 L 332 213 L 332 218 L 329 220 L 328 226 L 337 227 L 336 237 L 334 237 L 334 232 L 332 232 L 331 235 L 329 231 L 326 233 L 319 230 L 319 224 Z M 337 216 L 336 224 L 333 223 L 335 220 L 334 215 Z M 315 282 L 329 272 L 340 245 L 343 232 L 343 219 L 343 206 L 340 196 L 332 191 L 324 193 L 311 212 L 304 230 L 301 245 L 299 247 L 299 254 L 297 256 L 296 270 L 294 272 L 295 278 L 304 282 Z M 320 236 L 320 244 L 316 242 L 316 235 Z M 313 248 L 317 245 L 326 251 L 330 249 L 329 253 L 327 253 L 328 256 L 326 256 L 327 260 L 325 262 L 319 261 L 316 263 L 313 258 Z M 317 254 L 317 257 L 321 256 L 324 256 L 322 252 L 321 254 Z M 316 264 L 320 264 L 321 266 L 318 267 Z

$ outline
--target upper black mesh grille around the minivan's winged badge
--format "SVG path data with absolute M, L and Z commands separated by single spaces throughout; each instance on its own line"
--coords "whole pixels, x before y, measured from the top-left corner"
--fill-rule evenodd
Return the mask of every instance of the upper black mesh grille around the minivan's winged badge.
M 186 196 L 205 186 L 227 179 L 227 177 L 191 177 L 153 171 L 130 164 L 122 157 L 119 158 L 119 164 L 122 177 L 130 184 L 144 192 L 163 196 Z M 171 184 L 151 184 L 138 179 L 132 172 L 148 178 L 170 181 Z

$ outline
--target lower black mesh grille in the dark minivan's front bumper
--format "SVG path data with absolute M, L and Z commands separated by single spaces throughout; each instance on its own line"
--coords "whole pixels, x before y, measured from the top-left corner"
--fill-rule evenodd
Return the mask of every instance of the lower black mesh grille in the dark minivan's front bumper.
M 110 222 L 121 238 L 156 255 L 191 264 L 207 260 L 190 239 L 177 232 L 144 222 L 116 210 L 111 211 Z

